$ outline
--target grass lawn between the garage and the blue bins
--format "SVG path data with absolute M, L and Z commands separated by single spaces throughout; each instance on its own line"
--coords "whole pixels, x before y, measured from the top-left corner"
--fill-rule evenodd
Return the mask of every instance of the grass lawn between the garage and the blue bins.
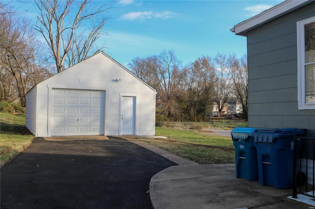
M 167 139 L 142 140 L 199 164 L 235 163 L 235 148 L 231 137 L 160 127 L 156 127 L 156 135 L 166 136 Z

